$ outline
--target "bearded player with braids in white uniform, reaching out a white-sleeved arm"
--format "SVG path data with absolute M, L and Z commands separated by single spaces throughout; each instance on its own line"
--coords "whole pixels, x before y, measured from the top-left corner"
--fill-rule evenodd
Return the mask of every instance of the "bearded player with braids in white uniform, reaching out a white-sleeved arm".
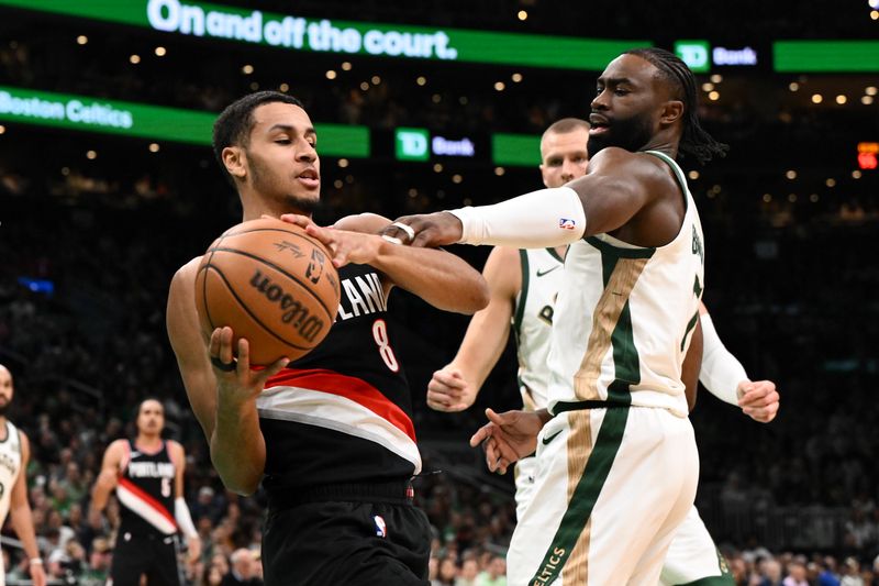
M 491 469 L 537 451 L 508 556 L 514 586 L 657 584 L 699 475 L 682 375 L 701 339 L 704 240 L 675 158 L 703 163 L 725 146 L 702 130 L 693 75 L 671 53 L 626 52 L 597 90 L 583 177 L 386 230 L 413 245 L 570 244 L 548 408 L 489 410 L 471 440 Z

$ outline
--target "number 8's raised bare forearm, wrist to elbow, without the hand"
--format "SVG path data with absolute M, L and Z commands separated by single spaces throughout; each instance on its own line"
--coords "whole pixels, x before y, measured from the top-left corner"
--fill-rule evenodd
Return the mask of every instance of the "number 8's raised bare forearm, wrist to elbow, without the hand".
M 488 285 L 482 275 L 463 258 L 445 251 L 382 241 L 370 264 L 394 285 L 438 309 L 474 313 L 488 303 Z

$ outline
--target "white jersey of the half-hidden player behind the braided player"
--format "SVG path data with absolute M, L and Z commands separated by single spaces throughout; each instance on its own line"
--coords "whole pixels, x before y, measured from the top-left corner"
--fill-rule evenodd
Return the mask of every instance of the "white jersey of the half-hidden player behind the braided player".
M 515 298 L 513 333 L 519 355 L 519 390 L 527 410 L 546 407 L 549 387 L 549 340 L 553 307 L 561 285 L 565 261 L 555 248 L 519 251 L 522 289 Z

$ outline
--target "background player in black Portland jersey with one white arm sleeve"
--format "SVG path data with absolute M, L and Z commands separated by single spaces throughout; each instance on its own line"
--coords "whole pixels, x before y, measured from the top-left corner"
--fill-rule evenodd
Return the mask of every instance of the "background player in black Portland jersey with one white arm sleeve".
M 190 562 L 201 553 L 182 496 L 183 447 L 162 439 L 165 409 L 155 399 L 141 402 L 136 425 L 135 440 L 116 440 L 107 447 L 91 511 L 100 513 L 115 489 L 122 520 L 110 568 L 114 586 L 138 586 L 142 576 L 151 586 L 179 585 L 177 533 L 186 535 Z

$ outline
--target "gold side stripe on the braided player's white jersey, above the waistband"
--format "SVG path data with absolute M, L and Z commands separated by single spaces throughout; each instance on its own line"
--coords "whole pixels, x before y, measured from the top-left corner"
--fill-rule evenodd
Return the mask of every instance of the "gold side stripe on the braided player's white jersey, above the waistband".
M 580 362 L 580 369 L 574 375 L 574 392 L 578 399 L 600 400 L 598 379 L 601 376 L 601 363 L 611 347 L 611 335 L 623 307 L 632 295 L 632 289 L 647 266 L 649 258 L 620 258 L 613 267 L 611 278 L 601 291 L 592 313 L 592 331 L 586 344 L 586 354 Z

